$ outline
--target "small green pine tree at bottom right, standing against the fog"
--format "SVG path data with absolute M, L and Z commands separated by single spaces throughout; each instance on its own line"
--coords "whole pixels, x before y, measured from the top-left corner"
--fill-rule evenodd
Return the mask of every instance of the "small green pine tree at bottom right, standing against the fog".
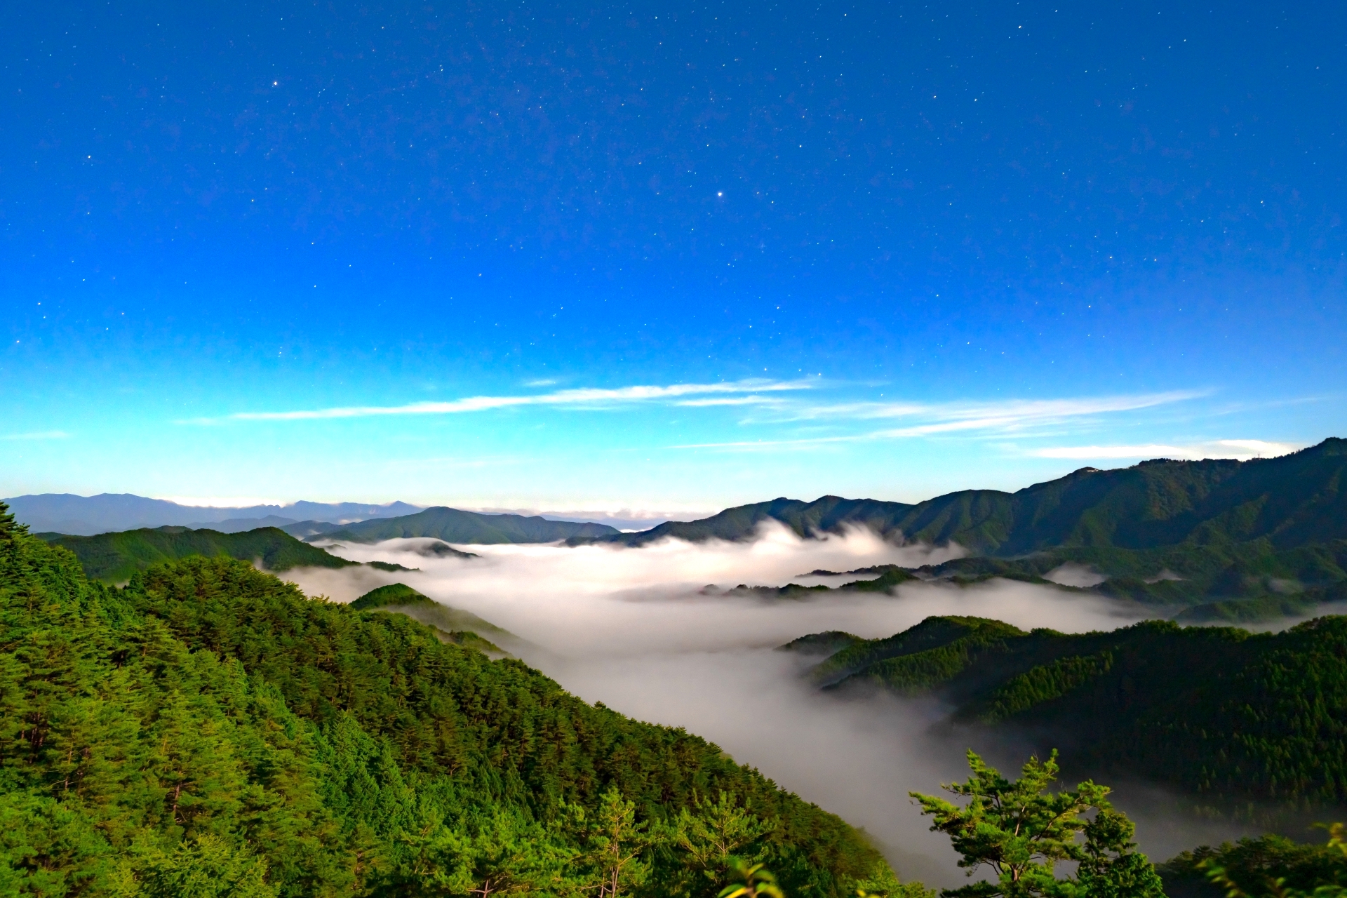
M 973 876 L 990 867 L 994 880 L 947 889 L 950 898 L 1164 898 L 1156 868 L 1133 851 L 1136 831 L 1109 804 L 1107 786 L 1086 781 L 1075 790 L 1048 792 L 1057 780 L 1057 753 L 1047 761 L 1029 758 L 1016 781 L 1004 778 L 968 751 L 973 775 L 943 786 L 968 798 L 955 805 L 944 798 L 911 793 L 931 829 L 950 836 L 963 855 L 960 867 Z M 1092 819 L 1087 819 L 1088 812 Z M 1076 862 L 1076 875 L 1059 879 L 1059 862 Z

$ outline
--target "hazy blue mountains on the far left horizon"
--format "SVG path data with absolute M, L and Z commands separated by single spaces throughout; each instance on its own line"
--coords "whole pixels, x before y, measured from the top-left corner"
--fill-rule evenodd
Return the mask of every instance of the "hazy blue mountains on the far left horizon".
M 362 502 L 294 502 L 291 505 L 252 505 L 247 508 L 205 508 L 151 499 L 131 493 L 71 495 L 42 493 L 4 499 L 9 512 L 32 532 L 92 536 L 143 526 L 210 528 L 221 533 L 238 533 L 259 526 L 284 526 L 299 521 L 349 524 L 374 517 L 399 517 L 419 512 L 422 506 L 407 502 L 369 505 Z

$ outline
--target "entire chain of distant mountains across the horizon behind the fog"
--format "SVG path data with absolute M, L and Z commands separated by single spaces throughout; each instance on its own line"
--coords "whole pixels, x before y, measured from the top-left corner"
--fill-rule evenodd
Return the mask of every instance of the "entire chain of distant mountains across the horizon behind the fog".
M 136 495 L 26 495 L 9 502 L 20 521 L 48 533 L 97 532 L 108 521 L 136 516 L 154 521 L 176 516 L 218 532 L 279 525 L 308 543 L 434 537 L 455 544 L 564 540 L 640 547 L 665 537 L 749 540 L 768 521 L 806 539 L 867 528 L 894 543 L 956 543 L 970 552 L 916 571 L 876 569 L 882 576 L 874 588 L 913 578 L 1048 583 L 1061 580 L 1057 568 L 1072 564 L 1105 578 L 1094 587 L 1105 595 L 1172 609 L 1189 621 L 1257 621 L 1347 599 L 1344 483 L 1347 440 L 1331 438 L 1274 459 L 1083 467 L 1016 493 L 963 490 L 915 505 L 835 495 L 812 502 L 777 498 L 638 533 L 539 516 L 418 510 L 404 502 L 251 509 L 190 508 Z M 307 517 L 275 514 L 282 510 Z M 197 520 L 206 513 L 220 520 Z

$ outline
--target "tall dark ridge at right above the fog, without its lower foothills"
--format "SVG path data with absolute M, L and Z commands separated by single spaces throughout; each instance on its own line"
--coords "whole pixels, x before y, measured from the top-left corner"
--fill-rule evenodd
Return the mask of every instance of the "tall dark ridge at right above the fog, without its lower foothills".
M 1329 438 L 1273 459 L 1086 467 L 1017 493 L 964 490 L 916 505 L 835 495 L 814 502 L 779 498 L 603 539 L 626 545 L 664 536 L 741 540 L 775 520 L 800 536 L 865 525 L 889 537 L 952 540 L 974 553 L 1002 557 L 1055 547 L 1152 549 L 1259 539 L 1286 549 L 1347 539 L 1344 478 L 1347 440 Z

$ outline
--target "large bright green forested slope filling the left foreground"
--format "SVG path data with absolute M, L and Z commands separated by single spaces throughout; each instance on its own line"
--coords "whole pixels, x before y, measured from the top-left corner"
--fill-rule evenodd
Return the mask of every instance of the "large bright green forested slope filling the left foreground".
M 242 561 L 90 582 L 3 505 L 0 784 L 7 894 L 590 894 L 607 828 L 625 891 L 714 895 L 717 815 L 791 894 L 893 889 L 859 833 L 682 730 Z

